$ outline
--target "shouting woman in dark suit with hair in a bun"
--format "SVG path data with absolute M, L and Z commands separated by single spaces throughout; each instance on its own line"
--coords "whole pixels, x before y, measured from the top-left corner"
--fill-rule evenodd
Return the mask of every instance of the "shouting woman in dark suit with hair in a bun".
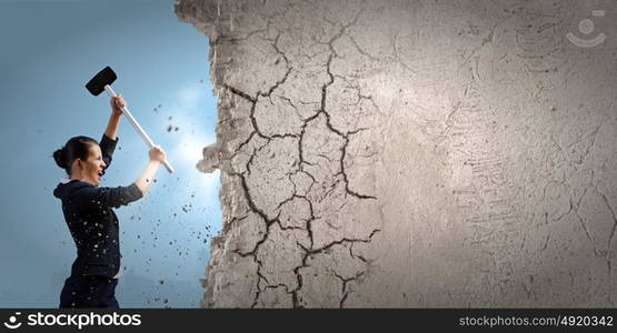
M 53 153 L 69 179 L 53 195 L 62 200 L 62 212 L 77 246 L 71 275 L 60 293 L 60 307 L 119 307 L 115 296 L 120 272 L 118 216 L 112 208 L 129 204 L 146 194 L 166 154 L 150 150 L 149 162 L 129 186 L 99 188 L 118 142 L 117 132 L 125 100 L 110 100 L 111 115 L 100 144 L 88 137 L 71 138 Z

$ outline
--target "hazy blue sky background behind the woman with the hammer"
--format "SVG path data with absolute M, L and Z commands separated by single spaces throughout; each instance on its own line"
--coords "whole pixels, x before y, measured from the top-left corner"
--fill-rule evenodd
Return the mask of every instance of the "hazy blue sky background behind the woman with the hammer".
M 215 139 L 208 40 L 173 13 L 175 0 L 0 0 L 2 103 L 1 307 L 56 307 L 76 258 L 52 152 L 74 135 L 100 140 L 110 108 L 83 87 L 106 65 L 112 88 L 176 169 L 117 210 L 122 307 L 198 306 L 209 242 L 220 229 L 219 174 L 195 164 Z M 169 130 L 171 127 L 171 131 Z M 176 130 L 178 128 L 178 130 Z M 103 186 L 128 185 L 148 149 L 127 119 Z

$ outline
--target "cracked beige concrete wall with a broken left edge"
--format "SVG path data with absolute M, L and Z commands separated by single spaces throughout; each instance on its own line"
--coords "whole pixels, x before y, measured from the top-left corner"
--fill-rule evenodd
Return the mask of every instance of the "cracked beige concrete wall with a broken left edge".
M 203 306 L 615 306 L 616 9 L 179 1 L 219 99 Z

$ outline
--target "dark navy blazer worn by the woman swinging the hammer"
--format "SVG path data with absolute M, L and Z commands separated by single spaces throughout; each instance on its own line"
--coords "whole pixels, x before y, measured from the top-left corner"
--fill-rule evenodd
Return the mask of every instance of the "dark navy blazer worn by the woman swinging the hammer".
M 107 168 L 116 143 L 103 134 L 100 148 Z M 129 204 L 142 196 L 139 188 L 99 188 L 71 180 L 59 183 L 53 195 L 62 200 L 62 212 L 77 246 L 71 275 L 113 278 L 120 270 L 118 216 L 112 208 Z

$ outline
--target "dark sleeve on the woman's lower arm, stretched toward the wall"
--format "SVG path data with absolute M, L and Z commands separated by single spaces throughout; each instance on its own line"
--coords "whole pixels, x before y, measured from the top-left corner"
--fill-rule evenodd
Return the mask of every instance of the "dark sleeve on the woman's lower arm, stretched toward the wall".
M 84 186 L 77 190 L 73 195 L 76 201 L 83 205 L 98 204 L 112 208 L 127 205 L 143 196 L 135 183 L 118 188 Z

